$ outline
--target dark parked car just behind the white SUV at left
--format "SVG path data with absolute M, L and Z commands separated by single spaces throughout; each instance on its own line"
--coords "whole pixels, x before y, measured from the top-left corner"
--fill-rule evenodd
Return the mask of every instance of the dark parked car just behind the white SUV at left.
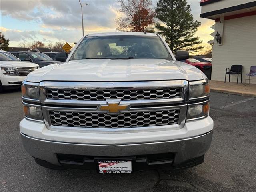
M 11 51 L 11 54 L 19 58 L 21 61 L 33 62 L 40 66 L 40 68 L 57 63 L 58 61 L 52 60 L 49 56 L 40 52 L 32 51 Z

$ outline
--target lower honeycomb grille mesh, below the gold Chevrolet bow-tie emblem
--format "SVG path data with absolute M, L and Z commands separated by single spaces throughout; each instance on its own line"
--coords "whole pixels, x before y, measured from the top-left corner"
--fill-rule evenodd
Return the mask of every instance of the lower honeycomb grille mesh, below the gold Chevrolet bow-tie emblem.
M 54 126 L 86 128 L 129 128 L 178 124 L 180 110 L 125 112 L 107 114 L 98 112 L 49 111 Z

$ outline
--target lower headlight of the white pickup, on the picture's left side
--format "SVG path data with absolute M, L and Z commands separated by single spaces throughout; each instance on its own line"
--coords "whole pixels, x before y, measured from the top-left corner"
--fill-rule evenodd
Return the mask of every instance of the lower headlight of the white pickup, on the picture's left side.
M 40 120 L 40 121 L 43 120 L 41 106 L 29 105 L 29 104 L 23 103 L 23 111 L 26 118 Z

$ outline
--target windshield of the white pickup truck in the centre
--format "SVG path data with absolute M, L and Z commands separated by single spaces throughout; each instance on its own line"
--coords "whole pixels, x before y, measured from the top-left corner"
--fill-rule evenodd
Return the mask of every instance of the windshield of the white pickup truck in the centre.
M 158 36 L 95 36 L 86 37 L 70 60 L 75 59 L 161 58 L 172 60 Z

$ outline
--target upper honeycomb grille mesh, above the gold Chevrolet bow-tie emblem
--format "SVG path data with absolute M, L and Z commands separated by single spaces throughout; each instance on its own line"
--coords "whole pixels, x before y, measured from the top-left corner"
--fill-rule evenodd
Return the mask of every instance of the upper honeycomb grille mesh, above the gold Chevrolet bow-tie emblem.
M 147 100 L 180 98 L 182 88 L 132 89 L 132 90 L 72 90 L 47 89 L 46 98 L 63 100 L 104 101 L 107 99 Z

